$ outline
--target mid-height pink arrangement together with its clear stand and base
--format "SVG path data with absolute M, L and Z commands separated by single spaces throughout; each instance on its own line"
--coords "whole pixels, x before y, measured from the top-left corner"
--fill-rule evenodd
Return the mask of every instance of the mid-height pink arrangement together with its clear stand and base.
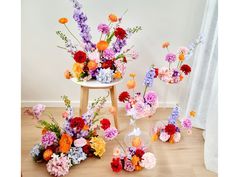
M 125 143 L 127 146 L 139 148 L 141 146 L 148 146 L 149 138 L 145 132 L 136 127 L 136 120 L 150 117 L 156 112 L 158 107 L 158 96 L 155 91 L 148 90 L 152 87 L 154 79 L 158 76 L 158 69 L 152 65 L 146 72 L 144 78 L 144 92 L 136 92 L 135 74 L 130 74 L 131 80 L 127 82 L 128 89 L 131 93 L 123 91 L 119 95 L 119 101 L 125 103 L 125 110 L 130 116 L 130 125 L 133 130 L 125 136 Z

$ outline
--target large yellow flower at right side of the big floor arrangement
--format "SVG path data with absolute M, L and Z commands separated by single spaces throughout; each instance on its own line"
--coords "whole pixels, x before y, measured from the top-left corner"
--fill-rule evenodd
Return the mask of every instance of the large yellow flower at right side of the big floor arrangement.
M 106 150 L 106 142 L 101 137 L 92 137 L 90 143 L 91 148 L 95 150 L 94 155 L 102 157 Z

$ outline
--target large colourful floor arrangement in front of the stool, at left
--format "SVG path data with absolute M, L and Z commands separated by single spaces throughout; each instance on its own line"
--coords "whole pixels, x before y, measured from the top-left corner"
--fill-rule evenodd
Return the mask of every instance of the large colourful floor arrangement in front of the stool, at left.
M 73 108 L 67 96 L 63 96 L 66 111 L 62 113 L 63 126 L 60 127 L 52 114 L 48 113 L 50 122 L 41 120 L 45 106 L 38 104 L 26 113 L 37 119 L 38 128 L 42 129 L 41 142 L 36 144 L 30 154 L 36 162 L 46 162 L 47 171 L 53 176 L 65 176 L 71 166 L 78 165 L 88 157 L 101 158 L 105 153 L 106 142 L 98 135 L 104 131 L 104 137 L 110 141 L 118 135 L 108 119 L 98 117 L 106 97 L 96 99 L 88 111 L 81 117 L 73 115 Z M 100 120 L 100 121 L 99 121 Z

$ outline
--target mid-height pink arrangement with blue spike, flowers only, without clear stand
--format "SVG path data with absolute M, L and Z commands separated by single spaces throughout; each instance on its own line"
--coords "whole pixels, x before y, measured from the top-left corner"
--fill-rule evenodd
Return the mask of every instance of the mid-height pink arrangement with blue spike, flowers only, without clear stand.
M 125 103 L 127 115 L 136 120 L 151 116 L 156 112 L 158 96 L 154 91 L 147 91 L 147 89 L 152 87 L 154 78 L 157 78 L 158 69 L 153 65 L 148 69 L 144 78 L 145 89 L 143 94 L 135 92 L 135 76 L 135 74 L 130 74 L 132 79 L 127 82 L 127 87 L 132 90 L 132 94 L 127 91 L 122 92 L 119 95 L 119 101 Z

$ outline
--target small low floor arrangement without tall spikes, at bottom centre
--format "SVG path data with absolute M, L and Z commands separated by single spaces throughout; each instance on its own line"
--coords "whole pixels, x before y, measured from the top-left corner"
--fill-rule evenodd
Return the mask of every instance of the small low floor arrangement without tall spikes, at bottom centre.
M 152 169 L 156 166 L 156 157 L 153 153 L 147 152 L 145 147 L 124 148 L 115 147 L 113 150 L 113 158 L 111 168 L 118 173 L 122 169 L 127 172 L 140 171 L 143 168 Z

